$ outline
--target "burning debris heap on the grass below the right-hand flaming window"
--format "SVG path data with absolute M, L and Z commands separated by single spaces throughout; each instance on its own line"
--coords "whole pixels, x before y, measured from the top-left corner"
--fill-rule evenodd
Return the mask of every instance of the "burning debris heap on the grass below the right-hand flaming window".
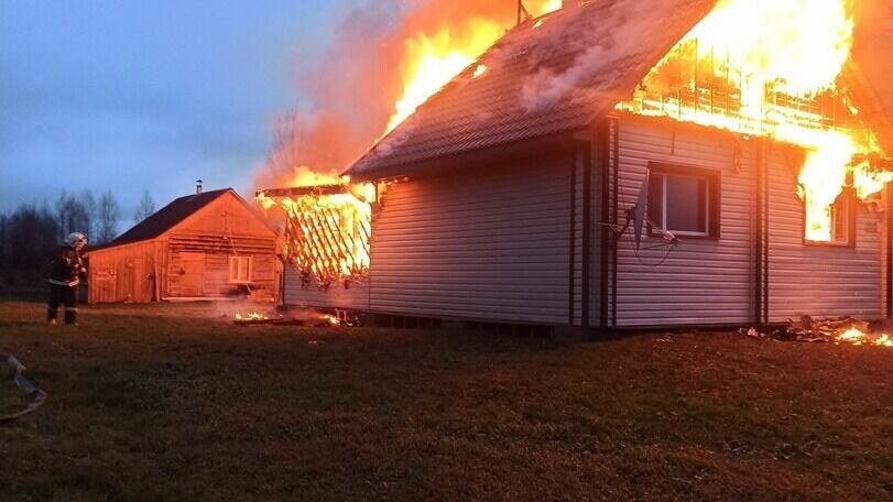
M 871 329 L 869 323 L 852 317 L 816 320 L 803 316 L 799 321 L 792 319 L 784 326 L 764 329 L 742 328 L 739 332 L 763 340 L 893 347 L 890 335 L 876 332 Z

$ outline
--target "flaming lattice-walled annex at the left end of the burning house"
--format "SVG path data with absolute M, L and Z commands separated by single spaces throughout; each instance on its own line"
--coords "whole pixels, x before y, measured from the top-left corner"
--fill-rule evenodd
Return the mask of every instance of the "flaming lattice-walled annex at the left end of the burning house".
M 320 288 L 361 281 L 369 273 L 369 240 L 375 187 L 322 185 L 258 194 L 265 208 L 286 214 L 283 253 L 305 281 Z

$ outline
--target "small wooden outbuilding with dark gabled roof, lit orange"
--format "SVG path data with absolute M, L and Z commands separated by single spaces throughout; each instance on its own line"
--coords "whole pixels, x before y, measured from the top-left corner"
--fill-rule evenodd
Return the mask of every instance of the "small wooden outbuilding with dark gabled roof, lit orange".
M 276 232 L 232 188 L 163 207 L 88 249 L 88 302 L 279 298 Z

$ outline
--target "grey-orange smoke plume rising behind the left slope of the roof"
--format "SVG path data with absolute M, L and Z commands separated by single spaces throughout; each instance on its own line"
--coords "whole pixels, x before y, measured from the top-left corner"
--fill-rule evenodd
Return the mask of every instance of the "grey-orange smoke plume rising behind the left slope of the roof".
M 545 0 L 525 1 L 535 12 Z M 301 107 L 270 120 L 273 145 L 255 188 L 288 183 L 300 167 L 338 174 L 379 139 L 403 91 L 407 41 L 442 30 L 462 35 L 488 20 L 515 23 L 509 0 L 369 0 L 335 30 L 322 64 L 295 76 Z

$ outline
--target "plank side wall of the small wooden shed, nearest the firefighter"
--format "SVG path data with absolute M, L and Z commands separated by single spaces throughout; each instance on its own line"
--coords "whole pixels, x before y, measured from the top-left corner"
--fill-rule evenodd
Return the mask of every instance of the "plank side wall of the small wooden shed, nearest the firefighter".
M 143 303 L 157 299 L 161 247 L 156 241 L 119 245 L 89 253 L 89 303 Z

